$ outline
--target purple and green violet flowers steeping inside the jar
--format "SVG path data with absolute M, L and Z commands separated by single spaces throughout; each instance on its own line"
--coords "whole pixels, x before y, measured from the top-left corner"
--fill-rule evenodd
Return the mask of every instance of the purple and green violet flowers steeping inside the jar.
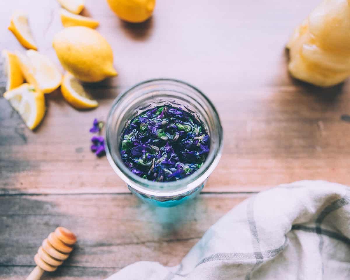
M 181 107 L 159 106 L 134 117 L 120 153 L 128 169 L 148 180 L 175 181 L 201 168 L 210 149 L 203 124 Z

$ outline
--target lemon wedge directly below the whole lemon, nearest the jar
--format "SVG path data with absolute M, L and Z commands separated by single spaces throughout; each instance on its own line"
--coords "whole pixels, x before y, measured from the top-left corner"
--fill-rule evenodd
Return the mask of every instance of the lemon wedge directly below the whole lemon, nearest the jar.
M 98 102 L 85 92 L 84 87 L 71 73 L 64 75 L 61 91 L 64 99 L 77 109 L 89 109 L 98 106 Z

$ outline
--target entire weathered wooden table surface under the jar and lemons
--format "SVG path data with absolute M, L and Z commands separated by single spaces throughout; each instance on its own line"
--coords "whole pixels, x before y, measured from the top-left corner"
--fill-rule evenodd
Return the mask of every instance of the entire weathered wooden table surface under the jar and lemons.
M 176 265 L 229 209 L 276 184 L 322 179 L 350 184 L 349 83 L 320 89 L 292 79 L 284 49 L 317 0 L 158 0 L 140 25 L 120 21 L 106 1 L 86 1 L 100 21 L 119 76 L 87 86 L 100 102 L 77 111 L 59 90 L 35 132 L 0 98 L 0 278 L 23 279 L 41 241 L 72 229 L 71 258 L 45 279 L 103 279 L 135 261 Z M 0 49 L 23 50 L 6 28 L 28 11 L 39 50 L 58 63 L 52 37 L 63 27 L 56 1 L 0 4 Z M 1 67 L 2 68 L 2 67 Z M 155 209 L 139 202 L 106 158 L 89 150 L 93 118 L 145 79 L 171 77 L 199 87 L 224 128 L 222 159 L 190 204 Z M 1 95 L 5 79 L 1 74 Z

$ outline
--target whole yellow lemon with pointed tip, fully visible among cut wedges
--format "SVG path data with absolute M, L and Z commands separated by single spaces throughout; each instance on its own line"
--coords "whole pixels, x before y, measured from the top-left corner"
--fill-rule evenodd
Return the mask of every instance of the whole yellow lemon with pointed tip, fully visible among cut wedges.
M 116 76 L 110 44 L 96 30 L 84 26 L 64 28 L 52 42 L 63 68 L 84 82 Z

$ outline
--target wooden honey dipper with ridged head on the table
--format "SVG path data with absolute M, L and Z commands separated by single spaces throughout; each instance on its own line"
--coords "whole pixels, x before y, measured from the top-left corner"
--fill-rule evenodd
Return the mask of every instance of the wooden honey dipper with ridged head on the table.
M 57 266 L 68 258 L 76 241 L 74 233 L 62 226 L 59 226 L 55 232 L 51 232 L 38 249 L 34 257 L 36 267 L 26 280 L 38 280 L 44 271 L 55 271 Z

